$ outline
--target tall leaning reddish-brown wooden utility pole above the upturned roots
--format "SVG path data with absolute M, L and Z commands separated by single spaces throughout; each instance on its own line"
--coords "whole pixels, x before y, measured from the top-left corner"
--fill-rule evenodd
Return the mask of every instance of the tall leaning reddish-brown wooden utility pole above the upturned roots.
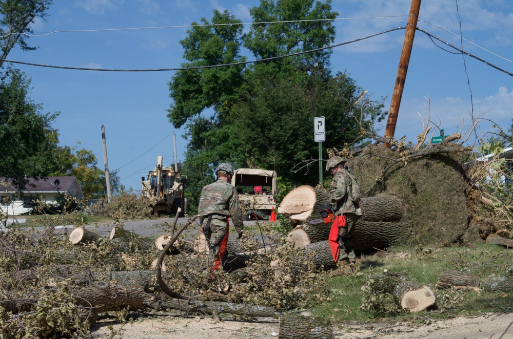
M 415 30 L 417 29 L 420 2 L 421 0 L 411 0 L 410 15 L 408 16 L 406 33 L 404 34 L 403 50 L 401 51 L 401 59 L 399 60 L 399 68 L 397 70 L 396 85 L 393 88 L 390 110 L 388 111 L 385 138 L 393 138 L 393 134 L 396 132 L 397 115 L 399 113 L 399 106 L 401 105 L 404 81 L 406 80 L 406 72 L 408 71 L 408 63 L 410 62 L 413 38 L 415 37 Z M 386 146 L 390 148 L 390 144 L 386 144 Z

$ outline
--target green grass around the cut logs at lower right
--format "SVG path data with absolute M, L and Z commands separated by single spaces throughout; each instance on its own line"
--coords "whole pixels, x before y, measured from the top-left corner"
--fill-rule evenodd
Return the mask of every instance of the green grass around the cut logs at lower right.
M 405 257 L 406 255 L 406 257 Z M 430 319 L 444 319 L 455 316 L 482 315 L 487 313 L 513 312 L 513 291 L 463 291 L 437 288 L 440 273 L 444 269 L 462 270 L 476 274 L 480 281 L 490 275 L 506 276 L 513 274 L 513 254 L 511 250 L 497 245 L 477 244 L 472 247 L 451 246 L 443 248 L 396 248 L 389 252 L 361 256 L 359 271 L 350 276 L 337 276 L 330 280 L 331 301 L 318 305 L 312 313 L 329 317 L 333 321 L 367 322 L 383 317 L 383 314 L 369 307 L 361 307 L 364 301 L 374 301 L 374 310 L 384 311 L 393 304 L 391 295 L 371 294 L 362 291 L 362 286 L 371 273 L 408 273 L 412 282 L 427 285 L 437 296 L 437 303 L 429 309 L 412 313 L 409 311 L 388 312 L 389 320 L 415 320 L 416 315 Z M 391 307 L 391 309 L 398 307 Z

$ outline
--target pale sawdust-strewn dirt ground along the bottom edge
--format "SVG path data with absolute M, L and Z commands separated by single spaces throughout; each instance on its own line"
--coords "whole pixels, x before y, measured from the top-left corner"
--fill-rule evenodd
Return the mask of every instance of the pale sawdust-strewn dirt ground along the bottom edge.
M 425 314 L 423 314 L 425 317 Z M 426 323 L 426 322 L 425 322 Z M 361 325 L 334 325 L 336 338 L 364 339 L 498 339 L 513 338 L 513 314 L 489 314 L 479 317 L 460 317 L 446 321 L 433 321 L 424 325 L 410 323 L 367 323 Z M 181 339 L 235 339 L 278 337 L 279 321 L 262 318 L 258 321 L 215 321 L 209 316 L 183 317 L 161 315 L 124 325 L 100 321 L 91 329 L 96 338 L 181 338 Z M 506 333 L 504 333 L 506 332 Z

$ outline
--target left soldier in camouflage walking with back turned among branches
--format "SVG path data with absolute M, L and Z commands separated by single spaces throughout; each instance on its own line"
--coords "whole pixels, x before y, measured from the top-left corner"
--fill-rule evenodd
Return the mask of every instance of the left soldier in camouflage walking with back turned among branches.
M 198 214 L 200 223 L 207 239 L 210 256 L 213 261 L 212 269 L 223 267 L 226 260 L 226 243 L 228 242 L 228 218 L 235 226 L 235 230 L 242 237 L 244 224 L 242 222 L 241 202 L 237 197 L 237 190 L 233 187 L 231 177 L 233 167 L 229 163 L 221 163 L 215 170 L 218 180 L 203 187 L 200 197 Z M 204 275 L 207 275 L 208 272 Z

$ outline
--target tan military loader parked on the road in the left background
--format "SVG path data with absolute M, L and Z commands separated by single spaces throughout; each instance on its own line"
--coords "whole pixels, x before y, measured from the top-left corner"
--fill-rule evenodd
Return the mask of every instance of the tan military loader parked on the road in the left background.
M 177 171 L 177 166 L 168 167 L 162 165 L 162 156 L 157 157 L 157 164 L 153 171 L 149 171 L 146 178 L 141 176 L 141 195 L 150 199 L 153 214 L 176 215 L 180 207 L 180 217 L 187 211 L 187 200 L 184 197 L 184 189 L 187 185 L 187 177 Z

